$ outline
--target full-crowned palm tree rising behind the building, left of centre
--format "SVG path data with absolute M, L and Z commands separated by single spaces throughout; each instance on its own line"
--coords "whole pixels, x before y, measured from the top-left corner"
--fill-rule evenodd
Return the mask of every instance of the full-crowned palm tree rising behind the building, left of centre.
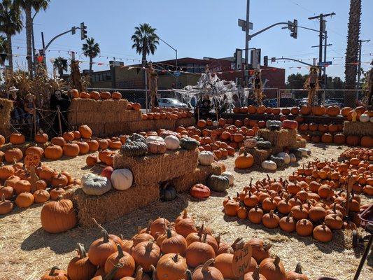
M 158 36 L 155 34 L 156 28 L 151 27 L 148 23 L 139 25 L 134 28 L 134 34 L 131 40 L 134 42 L 132 48 L 136 49 L 136 52 L 142 55 L 141 64 L 146 64 L 146 55 L 154 55 L 159 44 Z

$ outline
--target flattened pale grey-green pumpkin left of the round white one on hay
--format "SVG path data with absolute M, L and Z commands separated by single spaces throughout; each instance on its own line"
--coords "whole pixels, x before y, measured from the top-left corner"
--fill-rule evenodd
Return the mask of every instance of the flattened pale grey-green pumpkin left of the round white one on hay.
M 103 176 L 87 174 L 82 177 L 82 190 L 87 195 L 104 195 L 111 190 L 111 181 Z

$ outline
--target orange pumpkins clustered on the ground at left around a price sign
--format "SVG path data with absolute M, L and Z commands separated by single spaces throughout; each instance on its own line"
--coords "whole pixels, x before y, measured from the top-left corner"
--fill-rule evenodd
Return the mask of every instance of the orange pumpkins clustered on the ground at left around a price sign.
M 58 200 L 67 188 L 80 185 L 80 180 L 73 179 L 69 172 L 56 172 L 48 165 L 36 167 L 34 176 L 31 178 L 22 162 L 0 164 L 0 214 L 8 214 L 14 204 L 27 208 L 34 203 Z

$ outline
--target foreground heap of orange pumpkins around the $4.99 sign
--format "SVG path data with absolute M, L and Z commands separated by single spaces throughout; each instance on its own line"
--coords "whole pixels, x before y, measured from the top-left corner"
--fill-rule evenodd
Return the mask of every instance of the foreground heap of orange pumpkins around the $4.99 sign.
M 213 237 L 211 229 L 195 221 L 186 211 L 170 223 L 166 218 L 150 221 L 147 228 L 139 228 L 131 239 L 123 239 L 99 225 L 101 238 L 94 240 L 87 251 L 78 244 L 77 255 L 67 269 L 52 267 L 43 280 L 224 280 L 234 279 L 233 253 L 236 244 Z M 252 257 L 244 270 L 246 280 L 294 280 L 308 277 L 300 265 L 295 272 L 286 272 L 278 256 L 271 258 L 271 247 L 263 239 L 247 241 Z M 55 278 L 52 278 L 55 277 Z

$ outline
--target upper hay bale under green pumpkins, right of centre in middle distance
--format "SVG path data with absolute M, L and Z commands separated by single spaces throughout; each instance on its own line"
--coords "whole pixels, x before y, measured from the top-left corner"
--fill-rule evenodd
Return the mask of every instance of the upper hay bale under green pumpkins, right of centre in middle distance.
M 267 129 L 259 130 L 258 136 L 272 143 L 274 147 L 293 146 L 297 141 L 297 130 L 278 130 L 271 131 Z

